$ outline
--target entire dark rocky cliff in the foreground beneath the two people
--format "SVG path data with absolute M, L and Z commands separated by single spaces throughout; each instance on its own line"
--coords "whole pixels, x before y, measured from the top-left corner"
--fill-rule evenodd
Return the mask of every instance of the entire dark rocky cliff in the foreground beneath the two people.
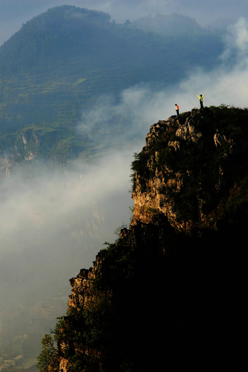
M 151 126 L 129 229 L 70 280 L 40 371 L 240 370 L 245 352 L 248 110 Z

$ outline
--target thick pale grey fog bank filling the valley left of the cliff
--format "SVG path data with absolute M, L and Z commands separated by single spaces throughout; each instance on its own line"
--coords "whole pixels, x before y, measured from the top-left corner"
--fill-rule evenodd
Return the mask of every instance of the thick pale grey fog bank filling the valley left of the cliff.
M 115 241 L 115 229 L 130 218 L 131 157 L 110 151 L 98 163 L 53 171 L 19 165 L 1 181 L 2 304 L 49 299 L 92 265 L 105 241 Z

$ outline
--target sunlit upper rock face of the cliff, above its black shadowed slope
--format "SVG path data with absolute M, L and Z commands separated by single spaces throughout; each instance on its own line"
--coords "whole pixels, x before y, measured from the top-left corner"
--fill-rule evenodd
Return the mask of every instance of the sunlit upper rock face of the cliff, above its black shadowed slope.
M 181 232 L 217 229 L 240 193 L 237 170 L 246 174 L 247 112 L 236 114 L 206 108 L 151 126 L 134 162 L 132 224 L 163 213 Z

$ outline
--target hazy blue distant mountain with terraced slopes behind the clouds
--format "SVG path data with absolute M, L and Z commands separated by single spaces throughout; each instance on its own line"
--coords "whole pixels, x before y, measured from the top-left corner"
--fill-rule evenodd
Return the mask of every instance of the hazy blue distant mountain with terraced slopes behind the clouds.
M 118 102 L 120 92 L 135 84 L 165 87 L 180 81 L 189 68 L 218 63 L 223 51 L 218 35 L 204 31 L 190 38 L 184 33 L 162 37 L 70 5 L 23 24 L 0 47 L 0 136 L 6 135 L 0 139 L 2 156 L 7 154 L 11 163 L 12 158 L 60 159 L 61 147 L 67 158 L 86 148 L 94 153 L 94 141 L 87 133 L 80 136 L 75 126 L 82 112 L 96 102 L 101 105 L 99 97 L 112 94 Z M 121 133 L 126 128 L 125 119 L 117 129 Z M 23 150 L 23 143 L 18 146 L 22 135 L 33 155 Z M 44 139 L 39 146 L 37 136 Z

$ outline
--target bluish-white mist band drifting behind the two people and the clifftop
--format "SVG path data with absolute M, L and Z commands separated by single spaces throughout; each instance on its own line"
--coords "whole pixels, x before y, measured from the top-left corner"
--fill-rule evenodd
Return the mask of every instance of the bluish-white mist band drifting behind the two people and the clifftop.
M 198 66 L 189 70 L 186 79 L 175 82 L 173 87 L 159 89 L 155 84 L 138 84 L 121 92 L 116 97 L 99 97 L 92 109 L 82 113 L 78 130 L 92 140 L 109 139 L 119 135 L 119 141 L 142 141 L 151 124 L 167 120 L 175 115 L 175 104 L 180 112 L 199 108 L 197 94 L 205 95 L 205 106 L 226 104 L 245 108 L 248 106 L 248 21 L 240 18 L 225 36 L 225 51 L 220 64 L 213 70 Z M 106 127 L 110 132 L 106 135 Z M 93 134 L 94 133 L 94 134 Z

